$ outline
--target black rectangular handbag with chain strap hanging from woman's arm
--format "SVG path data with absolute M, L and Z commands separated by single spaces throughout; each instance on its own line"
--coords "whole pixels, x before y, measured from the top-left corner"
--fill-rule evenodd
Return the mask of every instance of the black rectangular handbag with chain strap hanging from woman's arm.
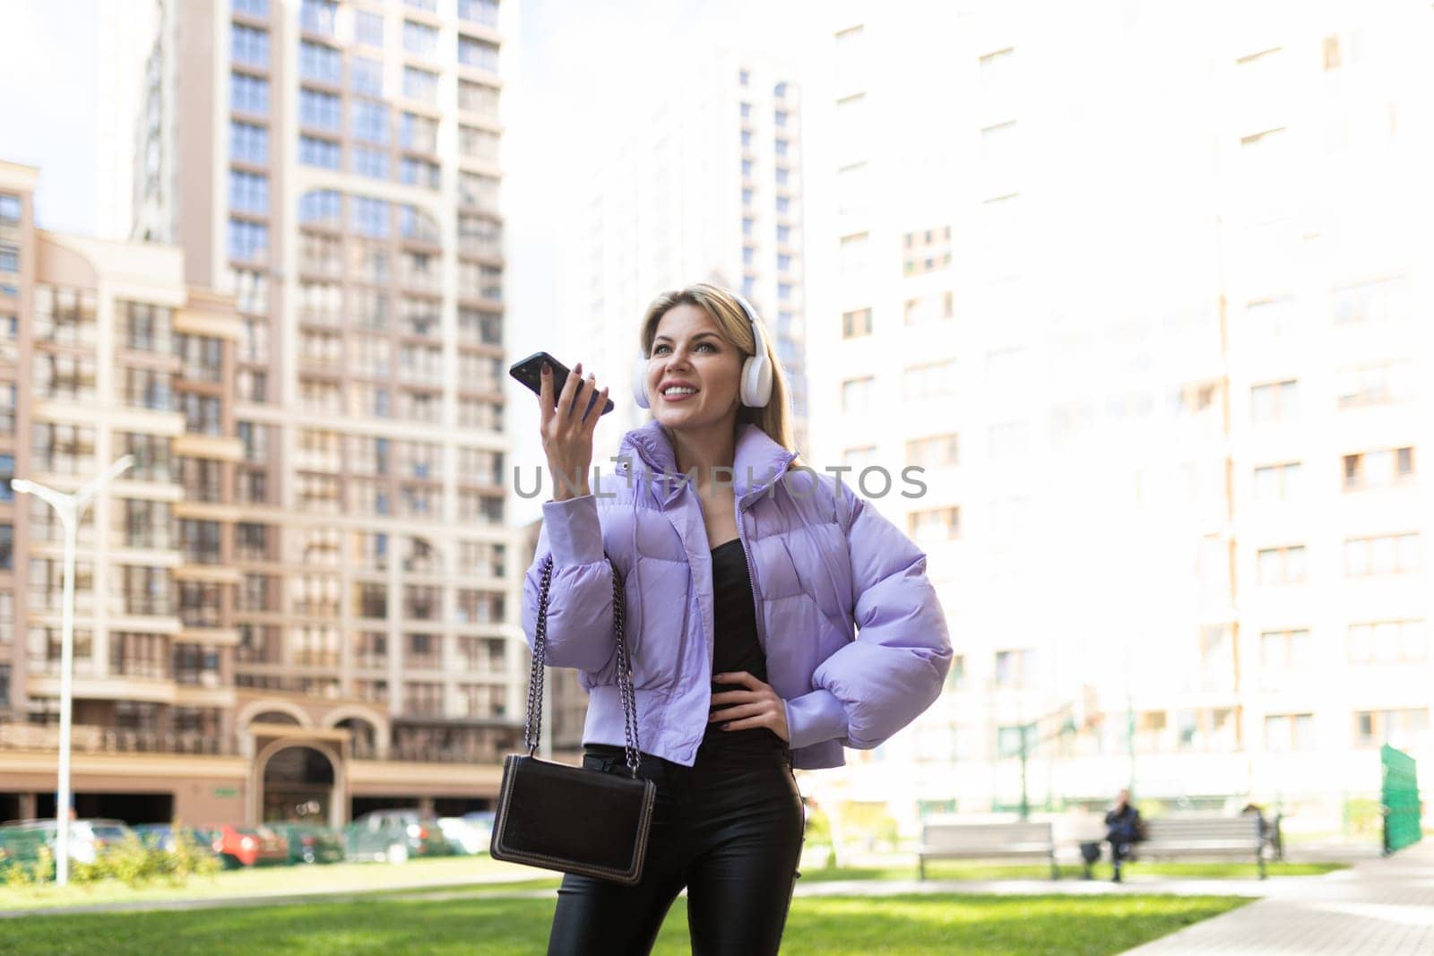
M 608 559 L 611 563 L 612 559 Z M 552 556 L 543 562 L 538 626 L 528 679 L 528 754 L 503 758 L 503 783 L 489 851 L 495 860 L 578 873 L 632 886 L 642 879 L 657 785 L 637 775 L 640 765 L 637 698 L 622 639 L 622 580 L 612 568 L 612 629 L 617 634 L 618 689 L 627 731 L 628 774 L 609 774 L 539 760 L 543 654 L 548 641 L 548 586 Z

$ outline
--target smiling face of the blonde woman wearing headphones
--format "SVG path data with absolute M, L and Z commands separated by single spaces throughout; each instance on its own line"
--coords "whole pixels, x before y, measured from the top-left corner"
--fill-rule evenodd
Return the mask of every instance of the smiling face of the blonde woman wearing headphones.
M 667 310 L 647 360 L 647 397 L 654 417 L 670 429 L 736 419 L 744 358 L 704 310 L 687 302 Z M 685 388 L 670 391 L 673 386 Z

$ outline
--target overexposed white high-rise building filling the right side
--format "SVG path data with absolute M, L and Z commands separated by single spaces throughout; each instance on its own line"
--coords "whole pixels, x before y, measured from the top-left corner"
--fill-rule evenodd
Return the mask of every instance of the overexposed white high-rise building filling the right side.
M 1431 754 L 1434 17 L 1344 11 L 833 10 L 815 449 L 925 467 L 863 492 L 956 658 L 813 790 L 1012 810 L 1024 738 L 1037 807 L 1133 783 L 1338 828 L 1380 744 Z

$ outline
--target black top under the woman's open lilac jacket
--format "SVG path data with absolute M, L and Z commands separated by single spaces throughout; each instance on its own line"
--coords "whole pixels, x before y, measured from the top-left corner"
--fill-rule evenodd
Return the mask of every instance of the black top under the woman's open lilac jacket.
M 747 552 L 741 539 L 711 549 L 713 558 L 713 674 L 747 671 L 761 682 L 767 681 L 767 656 L 757 639 L 757 609 L 753 603 L 751 576 L 747 573 Z M 740 691 L 741 684 L 713 681 L 713 694 Z M 716 704 L 713 709 L 727 709 L 733 704 Z M 710 715 L 710 714 L 708 714 Z M 739 718 L 741 720 L 741 718 Z M 741 747 L 774 750 L 786 741 L 766 727 L 724 731 L 720 721 L 707 725 L 706 747 Z

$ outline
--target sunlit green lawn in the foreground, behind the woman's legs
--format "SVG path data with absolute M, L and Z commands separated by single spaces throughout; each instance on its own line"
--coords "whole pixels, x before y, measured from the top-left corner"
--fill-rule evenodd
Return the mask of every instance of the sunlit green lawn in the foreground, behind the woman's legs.
M 797 897 L 783 953 L 1119 953 L 1225 913 L 1232 897 Z M 102 914 L 34 914 L 0 924 L 0 953 L 529 955 L 546 947 L 555 900 L 394 900 Z M 688 953 L 678 899 L 654 950 Z

